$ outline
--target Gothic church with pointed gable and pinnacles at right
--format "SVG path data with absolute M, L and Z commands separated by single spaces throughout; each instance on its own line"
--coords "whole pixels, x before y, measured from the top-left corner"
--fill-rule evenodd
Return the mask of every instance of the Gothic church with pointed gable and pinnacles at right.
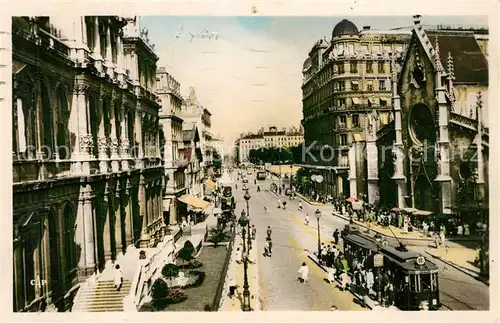
M 380 203 L 480 211 L 488 204 L 488 31 L 426 30 L 414 19 L 409 49 L 393 62 L 395 120 L 376 132 Z

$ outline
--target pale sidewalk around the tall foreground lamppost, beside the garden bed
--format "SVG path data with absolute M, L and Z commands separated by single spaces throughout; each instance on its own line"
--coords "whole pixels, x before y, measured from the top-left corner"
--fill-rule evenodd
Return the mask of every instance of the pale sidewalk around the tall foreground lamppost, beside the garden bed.
M 257 234 L 258 235 L 258 234 Z M 241 235 L 236 235 L 234 247 L 231 253 L 229 269 L 227 271 L 224 290 L 222 291 L 222 301 L 220 311 L 242 311 L 243 308 L 243 283 L 244 283 L 244 265 L 236 263 L 236 249 L 243 248 L 243 239 Z M 260 295 L 259 295 L 259 266 L 258 266 L 258 246 L 257 237 L 252 240 L 252 249 L 250 250 L 249 258 L 251 263 L 248 263 L 248 285 L 250 291 L 250 307 L 252 311 L 260 311 Z M 229 278 L 233 276 L 236 280 L 235 296 L 229 298 L 229 286 L 227 285 Z

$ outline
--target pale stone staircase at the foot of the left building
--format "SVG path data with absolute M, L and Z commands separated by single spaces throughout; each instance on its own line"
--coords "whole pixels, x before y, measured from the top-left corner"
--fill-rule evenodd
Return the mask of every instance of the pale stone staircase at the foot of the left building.
M 87 285 L 78 293 L 72 312 L 123 312 L 123 298 L 130 292 L 130 280 L 117 291 L 112 280 Z

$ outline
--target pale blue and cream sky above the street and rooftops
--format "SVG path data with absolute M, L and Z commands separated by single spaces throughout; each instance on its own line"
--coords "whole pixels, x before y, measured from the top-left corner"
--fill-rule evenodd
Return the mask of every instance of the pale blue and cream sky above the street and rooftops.
M 196 88 L 212 112 L 213 132 L 230 145 L 241 132 L 260 126 L 299 125 L 302 119 L 302 63 L 319 38 L 349 19 L 358 29 L 413 25 L 411 16 L 207 17 L 145 16 L 160 56 L 158 66 L 181 83 L 185 95 Z M 423 16 L 423 25 L 487 26 L 484 16 Z M 204 30 L 218 39 L 191 39 Z

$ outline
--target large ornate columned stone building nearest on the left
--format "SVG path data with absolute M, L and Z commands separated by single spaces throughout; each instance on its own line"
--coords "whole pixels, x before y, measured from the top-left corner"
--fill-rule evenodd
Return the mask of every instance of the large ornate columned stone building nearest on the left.
M 158 57 L 135 17 L 70 15 L 12 19 L 15 311 L 163 232 Z

